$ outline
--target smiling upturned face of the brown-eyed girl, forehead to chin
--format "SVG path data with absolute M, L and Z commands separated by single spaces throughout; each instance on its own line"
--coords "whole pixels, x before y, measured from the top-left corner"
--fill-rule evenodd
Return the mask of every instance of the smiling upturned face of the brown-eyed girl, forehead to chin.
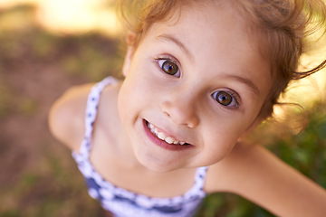
M 255 35 L 235 10 L 201 5 L 177 18 L 129 47 L 119 96 L 135 156 L 160 172 L 223 159 L 258 121 L 272 87 Z

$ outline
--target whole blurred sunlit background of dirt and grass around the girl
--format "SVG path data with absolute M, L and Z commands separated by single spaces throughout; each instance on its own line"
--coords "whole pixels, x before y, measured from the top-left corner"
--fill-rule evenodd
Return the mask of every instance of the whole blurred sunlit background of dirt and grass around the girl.
M 103 216 L 70 151 L 49 133 L 47 113 L 72 85 L 120 77 L 122 28 L 115 0 L 0 0 L 0 216 Z M 313 61 L 307 59 L 307 62 Z M 326 188 L 326 72 L 294 83 L 300 109 L 251 135 Z M 302 122 L 299 122 L 299 126 Z M 209 196 L 197 216 L 273 216 L 229 193 Z

